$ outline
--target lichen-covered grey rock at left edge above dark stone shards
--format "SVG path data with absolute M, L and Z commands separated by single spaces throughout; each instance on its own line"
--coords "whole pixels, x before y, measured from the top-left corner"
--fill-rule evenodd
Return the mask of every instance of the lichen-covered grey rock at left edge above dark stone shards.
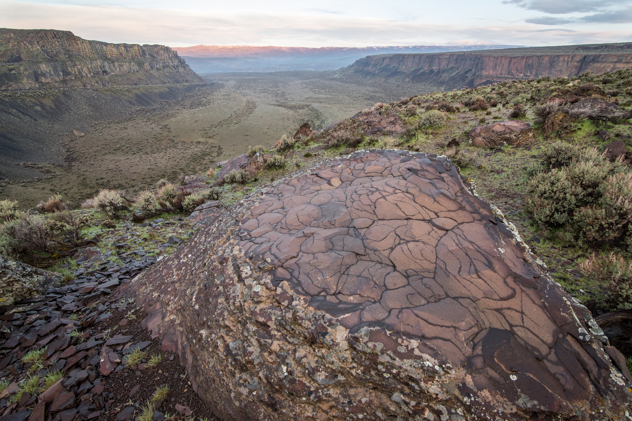
M 12 305 L 42 294 L 47 288 L 60 283 L 61 278 L 59 273 L 0 256 L 0 305 Z

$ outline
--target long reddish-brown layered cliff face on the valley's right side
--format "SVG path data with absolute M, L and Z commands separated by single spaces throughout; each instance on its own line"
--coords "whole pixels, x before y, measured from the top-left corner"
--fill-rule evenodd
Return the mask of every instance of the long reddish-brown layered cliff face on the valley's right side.
M 604 51 L 601 53 L 597 51 Z M 589 54 L 586 54 L 589 52 Z M 359 59 L 339 76 L 401 77 L 446 87 L 475 86 L 506 79 L 602 74 L 632 67 L 632 44 L 569 45 L 520 49 L 381 54 Z

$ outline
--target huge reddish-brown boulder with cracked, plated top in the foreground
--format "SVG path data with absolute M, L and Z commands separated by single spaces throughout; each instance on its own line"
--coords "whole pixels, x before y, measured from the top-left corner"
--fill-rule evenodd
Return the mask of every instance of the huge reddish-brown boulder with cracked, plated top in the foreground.
M 370 150 L 123 288 L 224 421 L 628 419 L 623 357 L 538 263 L 445 157 Z

